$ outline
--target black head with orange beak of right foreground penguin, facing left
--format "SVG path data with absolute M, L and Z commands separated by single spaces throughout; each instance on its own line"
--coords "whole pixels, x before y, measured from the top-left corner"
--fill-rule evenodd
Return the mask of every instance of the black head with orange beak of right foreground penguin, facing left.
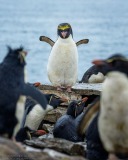
M 113 54 L 107 59 L 94 60 L 92 63 L 97 66 L 106 65 L 108 71 L 122 71 L 128 74 L 128 59 L 122 54 Z

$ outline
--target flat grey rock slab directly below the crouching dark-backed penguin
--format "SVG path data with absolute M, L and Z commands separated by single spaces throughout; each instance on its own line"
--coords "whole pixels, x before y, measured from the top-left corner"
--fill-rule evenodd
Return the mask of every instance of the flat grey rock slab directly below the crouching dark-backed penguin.
M 26 140 L 25 144 L 40 149 L 54 149 L 68 155 L 84 156 L 86 154 L 85 147 L 83 145 L 59 138 Z

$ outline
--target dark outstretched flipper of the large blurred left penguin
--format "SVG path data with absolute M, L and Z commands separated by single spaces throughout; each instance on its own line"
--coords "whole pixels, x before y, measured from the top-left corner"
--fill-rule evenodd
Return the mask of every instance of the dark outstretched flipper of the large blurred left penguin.
M 44 109 L 47 107 L 47 100 L 43 93 L 40 90 L 37 90 L 35 87 L 25 84 L 22 88 L 21 94 L 25 96 L 30 96 L 35 101 L 37 101 Z

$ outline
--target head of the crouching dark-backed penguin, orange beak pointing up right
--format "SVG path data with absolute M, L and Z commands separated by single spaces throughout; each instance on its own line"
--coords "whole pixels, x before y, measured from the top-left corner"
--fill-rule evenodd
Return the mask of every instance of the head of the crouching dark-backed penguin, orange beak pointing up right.
M 67 114 L 76 118 L 79 114 L 81 114 L 85 107 L 85 102 L 87 101 L 87 97 L 84 97 L 82 100 L 73 100 L 69 103 Z

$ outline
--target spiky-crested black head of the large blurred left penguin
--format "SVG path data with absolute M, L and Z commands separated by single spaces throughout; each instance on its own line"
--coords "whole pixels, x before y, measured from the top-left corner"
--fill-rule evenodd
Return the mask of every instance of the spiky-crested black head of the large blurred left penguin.
M 12 49 L 10 46 L 8 46 L 8 53 L 6 57 L 4 58 L 3 62 L 9 62 L 9 64 L 15 63 L 19 64 L 21 66 L 24 66 L 26 64 L 25 62 L 25 56 L 27 55 L 27 52 L 23 50 L 23 47 Z

